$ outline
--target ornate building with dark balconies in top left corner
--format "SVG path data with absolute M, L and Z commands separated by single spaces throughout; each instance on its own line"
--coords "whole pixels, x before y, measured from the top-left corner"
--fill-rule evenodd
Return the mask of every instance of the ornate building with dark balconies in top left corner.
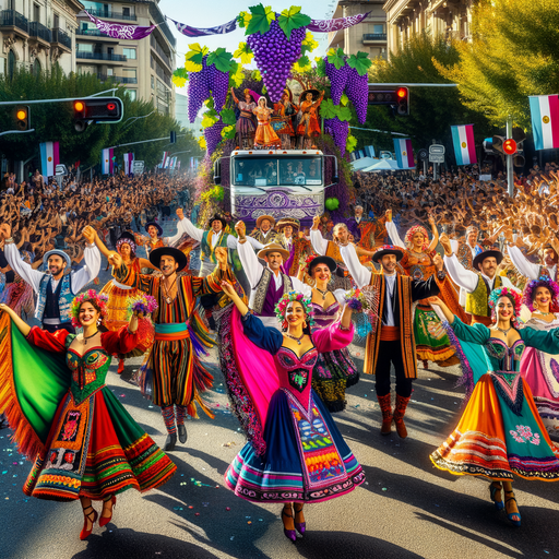
M 0 72 L 48 70 L 58 62 L 75 71 L 79 0 L 0 0 Z

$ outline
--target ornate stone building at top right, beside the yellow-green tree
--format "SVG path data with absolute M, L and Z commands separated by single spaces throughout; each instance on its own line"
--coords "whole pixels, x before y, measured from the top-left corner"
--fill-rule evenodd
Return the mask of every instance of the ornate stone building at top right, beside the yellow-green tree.
M 475 0 L 388 0 L 389 51 L 402 48 L 414 34 L 444 35 L 449 40 L 469 40 Z

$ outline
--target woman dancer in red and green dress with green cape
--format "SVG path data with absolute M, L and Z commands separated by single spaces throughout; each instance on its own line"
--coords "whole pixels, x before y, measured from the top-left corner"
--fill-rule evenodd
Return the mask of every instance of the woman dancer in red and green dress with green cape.
M 78 335 L 31 328 L 5 305 L 0 310 L 0 331 L 7 332 L 0 342 L 0 413 L 19 451 L 35 461 L 23 492 L 80 499 L 85 539 L 99 518 L 93 501 L 103 501 L 105 526 L 117 493 L 154 489 L 176 471 L 105 384 L 110 356 L 138 345 L 146 306 L 134 305 L 129 324 L 106 332 L 107 297 L 90 289 L 72 302 L 72 324 L 83 329 Z

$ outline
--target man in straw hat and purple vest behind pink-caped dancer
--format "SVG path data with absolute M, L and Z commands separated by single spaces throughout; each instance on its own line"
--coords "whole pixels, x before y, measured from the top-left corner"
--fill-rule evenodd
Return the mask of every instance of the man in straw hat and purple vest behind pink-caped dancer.
M 282 265 L 289 258 L 289 252 L 281 245 L 270 242 L 257 258 L 252 246 L 247 242 L 245 224 L 238 222 L 235 230 L 239 235 L 239 258 L 251 287 L 249 307 L 257 317 L 260 317 L 265 326 L 280 330 L 275 306 L 284 293 L 296 290 L 312 296 L 312 289 L 297 277 L 282 272 Z M 259 262 L 259 258 L 265 260 L 265 267 Z

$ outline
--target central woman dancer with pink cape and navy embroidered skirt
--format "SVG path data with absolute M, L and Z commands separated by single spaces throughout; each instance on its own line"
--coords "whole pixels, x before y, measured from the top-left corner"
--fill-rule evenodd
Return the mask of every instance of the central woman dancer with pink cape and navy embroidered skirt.
M 329 328 L 311 333 L 312 307 L 289 292 L 276 306 L 283 333 L 249 312 L 233 286 L 223 290 L 231 313 L 230 354 L 224 355 L 233 408 L 249 442 L 225 473 L 235 495 L 258 503 L 283 503 L 284 534 L 306 530 L 304 504 L 345 495 L 365 474 L 324 404 L 311 389 L 318 355 L 346 347 L 353 338 L 347 306 Z M 295 514 L 294 514 L 295 513 Z

